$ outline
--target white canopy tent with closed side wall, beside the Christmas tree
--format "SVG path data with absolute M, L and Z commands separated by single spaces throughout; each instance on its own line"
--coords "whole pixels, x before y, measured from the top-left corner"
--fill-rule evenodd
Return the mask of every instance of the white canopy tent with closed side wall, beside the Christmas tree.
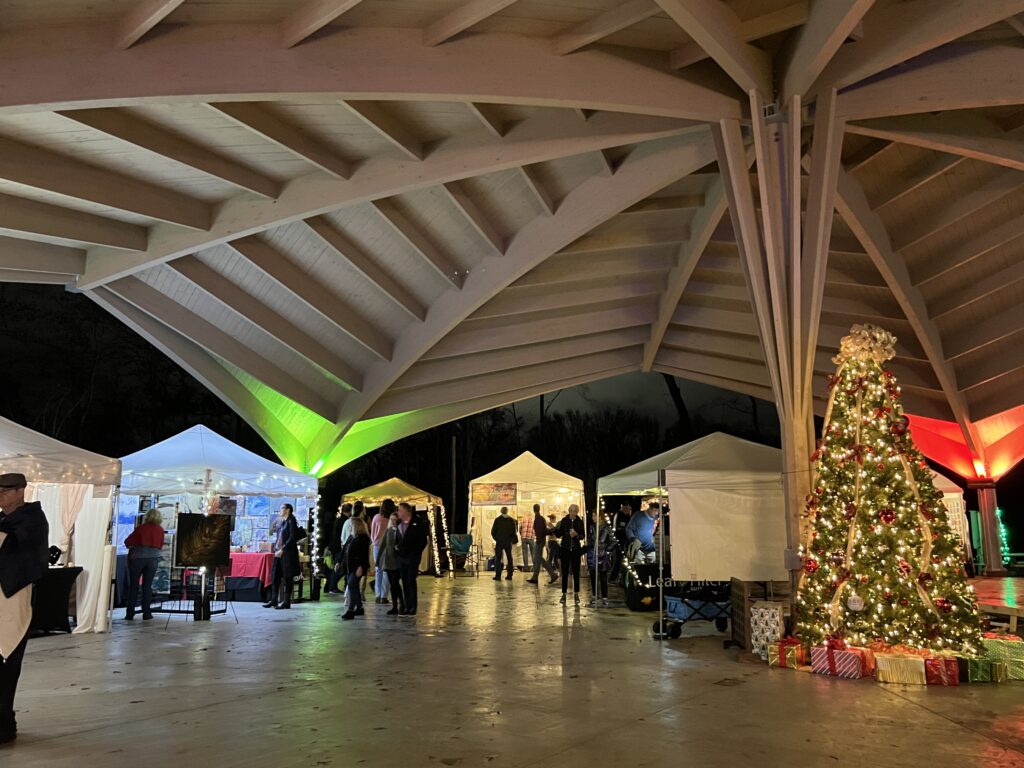
M 782 452 L 714 432 L 597 481 L 598 496 L 668 496 L 672 574 L 788 578 Z

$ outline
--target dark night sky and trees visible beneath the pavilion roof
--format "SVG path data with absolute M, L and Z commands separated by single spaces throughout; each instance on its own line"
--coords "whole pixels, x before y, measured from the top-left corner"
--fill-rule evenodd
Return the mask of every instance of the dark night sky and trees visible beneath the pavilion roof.
M 189 426 L 205 424 L 254 453 L 275 459 L 262 438 L 218 397 L 86 297 L 57 286 L 0 284 L 0 359 L 6 370 L 0 415 L 105 456 L 126 456 Z M 721 428 L 778 444 L 773 403 L 682 380 L 679 385 L 694 435 Z M 463 440 L 460 450 L 468 454 L 460 458 L 457 482 L 482 474 L 523 447 L 570 471 L 567 465 L 579 457 L 572 456 L 571 442 L 560 444 L 559 440 L 572 439 L 572 422 L 566 417 L 573 411 L 591 419 L 588 432 L 609 430 L 591 449 L 600 456 L 588 465 L 588 474 L 614 471 L 682 441 L 675 439 L 683 434 L 677 410 L 657 374 L 627 374 L 573 387 L 547 395 L 545 406 L 547 421 L 556 420 L 556 427 L 568 429 L 564 435 L 556 434 L 551 426 L 547 432 L 539 431 L 540 399 L 532 398 L 516 403 L 514 415 L 520 421 L 514 428 L 509 427 L 513 412 L 506 408 L 501 414 L 444 425 L 357 460 L 328 479 L 327 501 L 392 474 L 404 473 L 414 484 L 451 488 L 446 446 L 454 434 Z M 504 424 L 502 444 L 487 444 L 498 434 L 495 425 L 499 422 Z M 615 430 L 636 434 L 620 440 Z M 1014 527 L 1012 548 L 1024 549 L 1024 521 L 1019 519 L 1024 517 L 1024 466 L 1000 481 L 998 495 Z M 973 494 L 969 494 L 969 506 L 972 501 Z

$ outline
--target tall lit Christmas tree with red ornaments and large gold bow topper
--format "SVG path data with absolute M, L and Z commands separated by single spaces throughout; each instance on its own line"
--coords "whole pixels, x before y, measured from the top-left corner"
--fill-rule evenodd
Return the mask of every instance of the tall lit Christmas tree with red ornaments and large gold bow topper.
M 975 653 L 981 622 L 931 470 L 907 430 L 896 338 L 854 326 L 829 379 L 797 596 L 798 633 Z

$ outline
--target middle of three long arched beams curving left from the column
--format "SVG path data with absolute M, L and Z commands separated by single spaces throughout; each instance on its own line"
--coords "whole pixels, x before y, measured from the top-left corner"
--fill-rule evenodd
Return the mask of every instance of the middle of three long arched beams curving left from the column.
M 588 152 L 625 143 L 689 133 L 686 123 L 613 113 L 595 115 L 580 123 L 563 111 L 546 110 L 513 127 L 496 141 L 483 131 L 453 136 L 409 172 L 409 161 L 386 156 L 372 158 L 352 180 L 327 179 L 316 174 L 291 181 L 278 201 L 232 198 L 217 210 L 209 232 L 182 232 L 178 228 L 155 227 L 148 248 L 139 254 L 120 254 L 108 249 L 89 254 L 90 266 L 80 281 L 83 290 L 118 276 L 144 269 L 185 254 L 195 253 L 240 236 L 309 218 L 346 205 L 354 205 L 476 176 L 522 164 L 544 162 L 564 155 L 567 146 Z M 631 201 L 633 203 L 635 201 Z

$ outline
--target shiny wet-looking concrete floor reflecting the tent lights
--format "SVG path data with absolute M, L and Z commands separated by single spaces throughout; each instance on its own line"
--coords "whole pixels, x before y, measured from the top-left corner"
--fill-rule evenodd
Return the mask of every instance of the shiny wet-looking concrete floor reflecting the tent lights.
M 769 670 L 557 595 L 424 578 L 415 621 L 332 597 L 34 640 L 0 766 L 1024 766 L 1024 683 Z

